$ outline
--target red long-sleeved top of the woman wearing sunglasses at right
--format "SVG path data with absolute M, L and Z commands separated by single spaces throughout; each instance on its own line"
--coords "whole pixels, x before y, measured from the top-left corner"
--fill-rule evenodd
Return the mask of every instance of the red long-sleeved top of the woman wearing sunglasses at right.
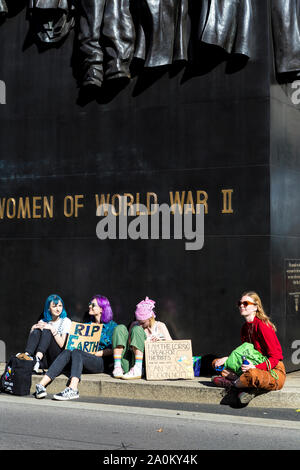
M 252 343 L 255 349 L 266 356 L 273 369 L 282 361 L 282 349 L 273 328 L 255 317 L 253 322 L 246 322 L 241 329 L 242 343 Z M 268 370 L 265 362 L 255 366 L 257 369 Z

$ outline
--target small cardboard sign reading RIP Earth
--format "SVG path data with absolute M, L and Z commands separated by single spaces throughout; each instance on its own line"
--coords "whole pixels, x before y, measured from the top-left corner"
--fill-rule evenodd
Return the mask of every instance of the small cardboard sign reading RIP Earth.
M 99 323 L 78 323 L 72 321 L 70 333 L 65 349 L 81 351 L 95 354 L 98 351 L 103 325 Z

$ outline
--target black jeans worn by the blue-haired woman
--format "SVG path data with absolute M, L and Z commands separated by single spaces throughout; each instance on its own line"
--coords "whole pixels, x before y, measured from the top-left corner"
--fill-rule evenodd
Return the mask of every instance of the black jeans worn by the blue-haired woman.
M 29 334 L 25 351 L 31 356 L 34 356 L 37 352 L 43 353 L 41 366 L 47 368 L 55 361 L 63 349 L 58 346 L 50 330 L 35 329 Z

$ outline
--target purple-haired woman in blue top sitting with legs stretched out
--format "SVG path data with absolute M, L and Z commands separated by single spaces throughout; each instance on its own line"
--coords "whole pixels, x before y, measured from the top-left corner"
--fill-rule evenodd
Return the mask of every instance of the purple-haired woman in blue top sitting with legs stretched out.
M 112 357 L 112 334 L 117 326 L 113 321 L 113 312 L 109 300 L 102 295 L 95 295 L 89 303 L 89 316 L 93 318 L 93 323 L 102 323 L 102 332 L 98 351 L 91 354 L 79 349 L 70 351 L 65 349 L 53 362 L 39 384 L 36 385 L 36 398 L 43 398 L 47 395 L 46 386 L 59 374 L 71 368 L 70 383 L 62 392 L 55 394 L 55 400 L 72 400 L 79 398 L 78 384 L 82 372 L 99 374 L 104 372 L 105 358 Z M 92 323 L 89 322 L 89 323 Z

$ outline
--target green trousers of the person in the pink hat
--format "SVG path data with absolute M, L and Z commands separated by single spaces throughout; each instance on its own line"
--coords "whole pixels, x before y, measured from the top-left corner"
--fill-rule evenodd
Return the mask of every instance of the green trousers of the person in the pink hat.
M 141 326 L 134 326 L 131 329 L 130 342 L 129 332 L 125 325 L 118 325 L 114 329 L 112 347 L 115 349 L 118 346 L 123 346 L 121 365 L 125 373 L 135 364 L 135 354 L 131 347 L 134 346 L 139 351 L 144 352 L 146 339 L 147 335 Z

